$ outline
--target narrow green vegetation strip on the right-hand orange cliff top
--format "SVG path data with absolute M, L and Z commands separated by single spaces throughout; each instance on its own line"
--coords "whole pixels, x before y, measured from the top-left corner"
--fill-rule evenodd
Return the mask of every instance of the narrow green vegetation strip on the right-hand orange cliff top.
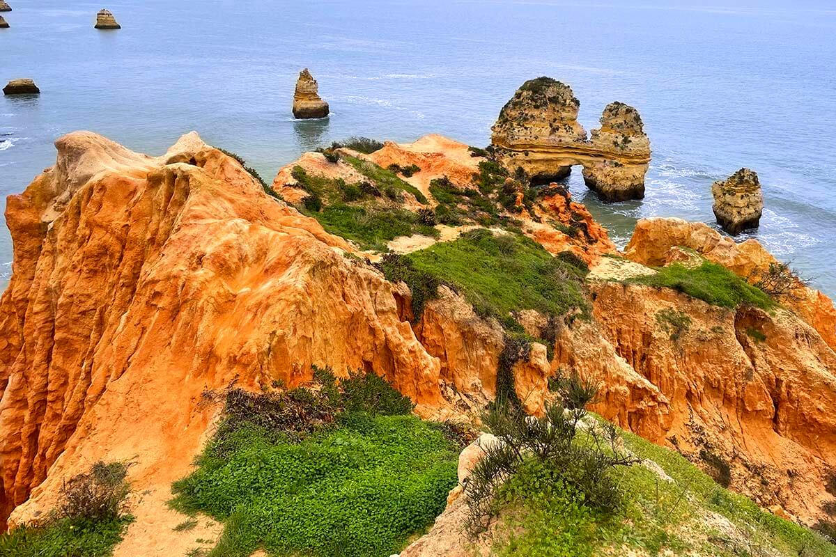
M 696 268 L 672 263 L 657 271 L 655 275 L 635 276 L 626 282 L 673 288 L 712 306 L 734 308 L 748 304 L 768 310 L 776 305 L 763 291 L 711 261 L 703 261 Z

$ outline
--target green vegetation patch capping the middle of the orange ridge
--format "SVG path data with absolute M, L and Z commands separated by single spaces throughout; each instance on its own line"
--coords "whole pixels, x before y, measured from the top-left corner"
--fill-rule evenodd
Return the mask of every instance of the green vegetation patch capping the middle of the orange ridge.
M 533 309 L 544 316 L 564 316 L 575 309 L 589 312 L 584 273 L 523 235 L 471 230 L 456 241 L 404 257 L 411 269 L 424 273 L 419 277 L 434 276 L 439 283 L 455 286 L 477 313 L 496 317 L 508 332 L 522 332 L 512 311 Z

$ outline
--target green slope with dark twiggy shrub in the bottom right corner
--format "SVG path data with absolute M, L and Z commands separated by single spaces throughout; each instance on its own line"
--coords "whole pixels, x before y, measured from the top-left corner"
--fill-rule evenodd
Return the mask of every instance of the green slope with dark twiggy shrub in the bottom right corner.
M 547 409 L 550 428 L 516 417 L 512 407 L 484 418 L 506 443 L 487 450 L 466 493 L 472 496 L 472 534 L 499 519 L 492 554 L 592 557 L 634 549 L 654 556 L 836 555 L 821 535 L 729 492 L 679 453 L 599 418 L 575 422 L 583 411 L 571 408 L 583 408 L 595 387 L 573 377 L 557 383 L 563 403 L 560 412 Z M 653 466 L 630 465 L 638 459 L 658 464 L 672 481 Z M 710 513 L 721 515 L 735 533 L 706 520 Z

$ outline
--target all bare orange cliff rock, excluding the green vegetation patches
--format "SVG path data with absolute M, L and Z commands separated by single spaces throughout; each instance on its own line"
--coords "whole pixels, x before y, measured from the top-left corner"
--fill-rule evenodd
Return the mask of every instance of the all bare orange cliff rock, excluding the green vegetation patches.
M 119 460 L 131 463 L 135 491 L 149 494 L 131 509 L 124 544 L 172 535 L 181 518 L 166 509 L 171 482 L 189 472 L 220 409 L 204 393 L 232 382 L 293 387 L 312 364 L 369 370 L 425 417 L 472 413 L 493 397 L 501 327 L 448 289 L 410 323 L 405 285 L 346 257 L 353 246 L 264 194 L 196 134 L 156 158 L 88 132 L 56 146 L 56 165 L 7 204 L 14 265 L 0 299 L 0 518 L 11 513 L 10 524 L 49 509 L 63 479 Z M 440 136 L 386 144 L 369 157 L 415 162 L 421 171 L 409 180 L 421 190 L 443 175 L 470 180 L 482 160 Z M 325 165 L 319 159 L 308 157 L 310 169 Z M 621 261 L 601 257 L 614 246 L 583 205 L 555 190 L 538 210 L 579 225 L 578 237 L 538 235 L 522 215 L 523 231 L 549 251 L 572 249 L 594 266 L 593 319 L 559 328 L 551 362 L 539 344 L 517 362 L 528 410 L 548 397 L 551 373 L 576 369 L 601 382 L 594 409 L 605 418 L 704 468 L 721 458 L 732 489 L 765 506 L 820 517 L 833 499 L 824 479 L 836 466 L 826 296 L 798 301 L 798 316 L 770 315 L 624 285 L 601 271 Z M 746 275 L 741 254 L 766 253 L 688 226 L 640 223 L 627 255 L 659 266 L 672 246 L 691 246 Z M 691 319 L 681 339 L 660 327 L 664 309 Z M 767 340 L 752 340 L 750 328 Z

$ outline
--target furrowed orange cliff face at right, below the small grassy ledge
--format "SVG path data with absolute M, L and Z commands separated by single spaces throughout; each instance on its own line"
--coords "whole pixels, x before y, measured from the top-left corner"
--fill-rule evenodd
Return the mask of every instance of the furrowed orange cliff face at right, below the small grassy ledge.
M 823 486 L 836 466 L 836 352 L 813 327 L 790 311 L 730 310 L 670 289 L 609 281 L 591 289 L 602 337 L 667 402 L 643 436 L 764 507 L 808 524 L 824 518 L 833 498 Z M 661 325 L 671 315 L 684 323 L 675 335 Z M 573 361 L 586 373 L 604 358 Z M 641 432 L 645 411 L 624 396 L 635 387 L 619 395 L 604 381 L 604 415 L 624 423 L 626 414 Z

